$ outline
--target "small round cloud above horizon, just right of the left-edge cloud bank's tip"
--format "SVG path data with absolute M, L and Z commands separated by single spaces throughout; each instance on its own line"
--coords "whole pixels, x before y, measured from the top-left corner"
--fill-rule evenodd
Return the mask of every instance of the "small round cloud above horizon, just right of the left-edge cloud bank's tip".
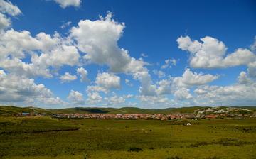
M 84 106 L 85 105 L 85 98 L 83 97 L 82 93 L 78 91 L 71 90 L 67 99 L 71 102 L 73 106 Z

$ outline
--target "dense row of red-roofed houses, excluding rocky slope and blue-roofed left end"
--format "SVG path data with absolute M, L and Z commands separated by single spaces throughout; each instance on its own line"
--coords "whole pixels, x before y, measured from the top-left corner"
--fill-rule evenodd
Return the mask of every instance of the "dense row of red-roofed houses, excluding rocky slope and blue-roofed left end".
M 217 119 L 221 117 L 254 117 L 255 114 L 181 114 L 176 112 L 173 114 L 53 114 L 57 118 L 82 118 L 82 119 Z

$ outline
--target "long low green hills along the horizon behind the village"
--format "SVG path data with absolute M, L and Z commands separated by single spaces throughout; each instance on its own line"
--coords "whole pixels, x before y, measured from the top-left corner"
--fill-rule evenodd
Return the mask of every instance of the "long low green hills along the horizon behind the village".
M 181 107 L 181 108 L 166 108 L 166 109 L 141 109 L 137 107 L 123 108 L 92 108 L 92 107 L 76 107 L 67 109 L 41 109 L 34 107 L 21 108 L 17 106 L 0 106 L 0 116 L 15 116 L 16 113 L 68 113 L 68 114 L 170 114 L 175 112 L 180 113 L 252 113 L 256 111 L 256 106 L 218 106 L 218 107 Z

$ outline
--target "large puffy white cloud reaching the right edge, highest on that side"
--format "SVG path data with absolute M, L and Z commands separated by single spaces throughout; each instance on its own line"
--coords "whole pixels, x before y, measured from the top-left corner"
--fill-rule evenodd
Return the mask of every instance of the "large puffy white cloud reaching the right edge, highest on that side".
M 256 60 L 252 51 L 238 48 L 234 53 L 226 55 L 228 49 L 222 41 L 206 36 L 192 41 L 188 36 L 177 39 L 178 48 L 190 52 L 190 66 L 192 68 L 226 68 L 240 65 L 248 65 Z M 253 47 L 252 47 L 253 48 Z

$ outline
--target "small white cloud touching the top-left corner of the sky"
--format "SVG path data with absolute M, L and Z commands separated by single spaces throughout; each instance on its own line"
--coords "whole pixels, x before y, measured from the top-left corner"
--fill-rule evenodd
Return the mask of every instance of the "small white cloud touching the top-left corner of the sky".
M 0 0 L 0 11 L 2 13 L 9 13 L 11 16 L 16 16 L 21 13 L 18 6 L 14 6 L 11 1 Z

